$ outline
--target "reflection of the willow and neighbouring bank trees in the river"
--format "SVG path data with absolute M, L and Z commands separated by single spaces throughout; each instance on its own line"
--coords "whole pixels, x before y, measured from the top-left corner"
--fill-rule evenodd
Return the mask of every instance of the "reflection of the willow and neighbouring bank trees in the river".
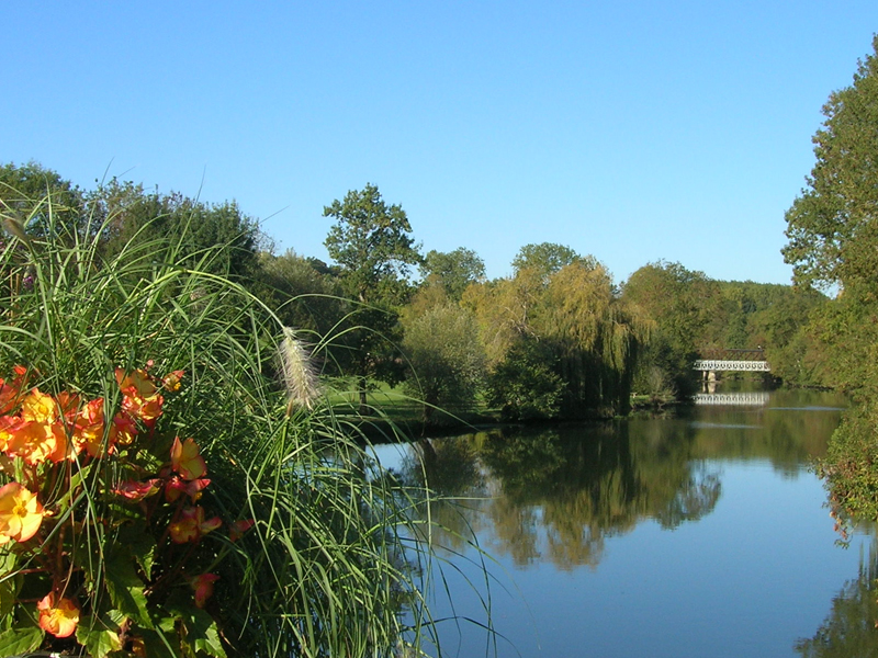
M 653 421 L 426 440 L 409 452 L 402 477 L 464 499 L 434 502 L 430 513 L 452 535 L 489 524 L 488 552 L 518 566 L 596 566 L 608 536 L 646 519 L 673 529 L 713 509 L 720 478 L 693 461 L 695 434 L 688 423 Z

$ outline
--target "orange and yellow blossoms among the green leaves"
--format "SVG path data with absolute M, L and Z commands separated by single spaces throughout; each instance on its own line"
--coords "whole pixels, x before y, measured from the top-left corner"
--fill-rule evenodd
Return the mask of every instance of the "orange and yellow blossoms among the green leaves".
M 33 481 L 37 480 L 36 467 L 41 464 L 82 460 L 85 455 L 101 458 L 131 445 L 142 428 L 151 430 L 161 416 L 165 400 L 160 387 L 177 390 L 183 376 L 182 371 L 175 371 L 157 386 L 146 370 L 126 374 L 116 368 L 122 405 L 108 422 L 103 398 L 82 400 L 66 392 L 53 397 L 35 387 L 27 389 L 25 368 L 16 366 L 14 372 L 11 382 L 0 378 L 0 452 L 29 466 L 32 473 L 29 479 Z M 177 544 L 194 543 L 222 525 L 218 517 L 205 519 L 204 509 L 194 504 L 210 484 L 204 478 L 206 474 L 198 444 L 192 439 L 180 441 L 177 438 L 170 452 L 170 465 L 158 477 L 117 483 L 112 491 L 139 502 L 164 490 L 168 503 L 179 501 L 168 535 Z M 181 500 L 183 497 L 192 504 L 185 504 Z M 0 545 L 11 541 L 27 542 L 38 533 L 46 515 L 37 495 L 24 485 L 11 481 L 0 487 Z M 233 540 L 251 525 L 251 521 L 234 524 Z M 190 580 L 196 605 L 204 605 L 217 578 L 203 574 Z M 76 601 L 58 593 L 64 589 L 56 582 L 54 591 L 37 603 L 40 626 L 56 637 L 71 635 L 79 621 L 80 609 Z

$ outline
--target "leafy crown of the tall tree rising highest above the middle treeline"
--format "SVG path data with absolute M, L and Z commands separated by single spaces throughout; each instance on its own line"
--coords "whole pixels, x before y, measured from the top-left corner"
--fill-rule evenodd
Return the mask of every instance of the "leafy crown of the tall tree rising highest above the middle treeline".
M 378 188 L 367 183 L 325 206 L 323 215 L 336 219 L 324 245 L 341 266 L 348 294 L 364 304 L 399 304 L 409 266 L 421 262 L 402 206 L 389 206 Z

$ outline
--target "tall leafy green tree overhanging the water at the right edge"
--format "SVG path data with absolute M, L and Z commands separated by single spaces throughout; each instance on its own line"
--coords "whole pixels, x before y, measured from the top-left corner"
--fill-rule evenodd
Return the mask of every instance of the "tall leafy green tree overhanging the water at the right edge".
M 817 372 L 858 402 L 820 467 L 842 520 L 878 518 L 878 36 L 873 50 L 823 106 L 814 168 L 787 212 L 784 250 L 800 285 L 836 291 L 810 339 Z

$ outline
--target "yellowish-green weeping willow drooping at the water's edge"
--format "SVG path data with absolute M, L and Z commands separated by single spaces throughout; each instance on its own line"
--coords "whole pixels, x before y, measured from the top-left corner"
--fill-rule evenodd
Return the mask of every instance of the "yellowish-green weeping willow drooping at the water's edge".
M 463 296 L 479 319 L 495 398 L 520 396 L 516 382 L 539 381 L 543 401 L 537 408 L 548 413 L 554 374 L 562 415 L 627 410 L 637 349 L 648 328 L 626 310 L 594 258 L 574 254 L 560 266 L 527 260 L 519 259 L 515 276 L 471 286 Z M 536 400 L 506 405 L 529 408 L 530 402 Z

